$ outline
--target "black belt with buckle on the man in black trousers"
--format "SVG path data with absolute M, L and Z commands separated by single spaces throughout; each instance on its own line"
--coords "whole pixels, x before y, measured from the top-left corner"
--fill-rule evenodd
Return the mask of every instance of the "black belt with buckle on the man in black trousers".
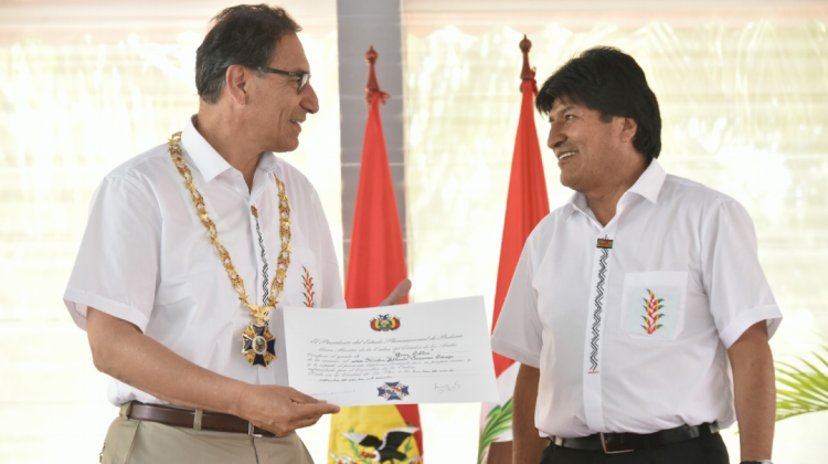
M 550 436 L 549 440 L 555 446 L 616 454 L 684 442 L 714 433 L 719 433 L 719 425 L 715 422 L 703 423 L 701 425 L 680 425 L 676 429 L 662 430 L 645 435 L 637 433 L 596 433 L 576 439 Z

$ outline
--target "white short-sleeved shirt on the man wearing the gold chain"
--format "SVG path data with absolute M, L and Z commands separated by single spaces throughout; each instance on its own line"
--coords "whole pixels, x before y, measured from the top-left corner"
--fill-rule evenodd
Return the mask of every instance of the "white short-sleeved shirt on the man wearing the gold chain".
M 344 307 L 328 222 L 305 176 L 265 152 L 248 190 L 242 173 L 210 146 L 192 120 L 182 131 L 181 146 L 250 303 L 263 304 L 280 250 L 276 175 L 287 190 L 293 235 L 277 308 Z M 258 224 L 251 207 L 257 209 Z M 64 300 L 82 329 L 92 306 L 136 325 L 198 366 L 248 383 L 287 384 L 279 312 L 270 318 L 276 359 L 267 368 L 251 367 L 242 355 L 241 334 L 253 319 L 195 213 L 167 144 L 119 166 L 98 187 Z M 108 397 L 114 404 L 163 402 L 115 379 Z

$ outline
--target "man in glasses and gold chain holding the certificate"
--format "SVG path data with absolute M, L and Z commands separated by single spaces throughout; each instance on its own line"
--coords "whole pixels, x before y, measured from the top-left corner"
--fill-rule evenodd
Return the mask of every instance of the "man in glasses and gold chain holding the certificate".
M 222 11 L 198 115 L 95 193 L 64 299 L 120 405 L 104 463 L 309 463 L 294 431 L 339 410 L 286 387 L 280 308 L 344 307 L 319 198 L 273 155 L 318 110 L 298 31 Z

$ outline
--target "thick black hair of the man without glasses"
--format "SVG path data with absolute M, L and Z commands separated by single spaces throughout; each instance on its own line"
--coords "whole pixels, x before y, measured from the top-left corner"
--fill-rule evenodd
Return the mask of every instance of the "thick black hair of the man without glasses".
M 596 46 L 567 61 L 543 83 L 534 102 L 548 115 L 555 99 L 570 101 L 601 113 L 634 119 L 635 149 L 648 161 L 661 152 L 661 114 L 647 77 L 633 56 L 611 46 Z

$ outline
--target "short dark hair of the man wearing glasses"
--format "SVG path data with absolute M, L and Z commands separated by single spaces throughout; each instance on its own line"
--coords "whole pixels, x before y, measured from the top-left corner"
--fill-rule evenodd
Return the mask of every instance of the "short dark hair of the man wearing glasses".
M 224 9 L 211 23 L 195 52 L 195 88 L 206 103 L 219 101 L 230 65 L 241 64 L 252 70 L 267 66 L 278 41 L 285 34 L 301 31 L 287 11 L 267 4 Z

